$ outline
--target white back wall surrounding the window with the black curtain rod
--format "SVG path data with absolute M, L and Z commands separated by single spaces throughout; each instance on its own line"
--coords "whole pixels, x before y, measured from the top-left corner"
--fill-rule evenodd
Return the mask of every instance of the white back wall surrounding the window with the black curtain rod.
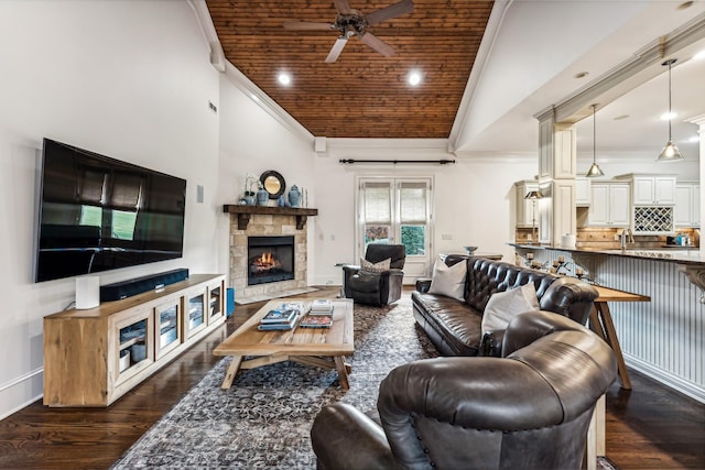
M 536 155 L 456 159 L 442 147 L 420 149 L 420 142 L 383 141 L 377 147 L 349 144 L 328 145 L 315 159 L 317 207 L 321 217 L 315 233 L 316 285 L 340 284 L 336 263 L 356 262 L 355 178 L 369 175 L 433 176 L 433 254 L 463 252 L 465 245 L 479 247 L 478 253 L 500 253 L 513 260 L 513 184 L 532 178 L 538 171 Z M 355 164 L 340 159 L 456 160 L 455 164 Z M 413 160 L 412 159 L 412 160 Z M 444 237 L 446 236 L 446 237 Z M 444 238 L 446 240 L 444 240 Z M 449 240 L 448 240 L 449 239 Z M 431 274 L 433 261 L 427 266 Z

